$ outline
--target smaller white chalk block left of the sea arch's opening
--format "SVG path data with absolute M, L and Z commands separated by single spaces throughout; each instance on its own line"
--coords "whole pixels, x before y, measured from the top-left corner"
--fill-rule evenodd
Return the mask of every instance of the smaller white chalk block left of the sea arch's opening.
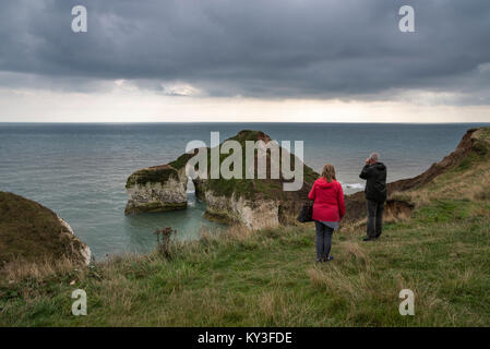
M 184 169 L 170 165 L 139 170 L 128 178 L 124 213 L 165 212 L 187 207 Z

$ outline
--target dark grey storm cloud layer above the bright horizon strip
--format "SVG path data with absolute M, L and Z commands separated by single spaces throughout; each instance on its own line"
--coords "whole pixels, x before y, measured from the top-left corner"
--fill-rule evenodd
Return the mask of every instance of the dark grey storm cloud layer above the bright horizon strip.
M 88 33 L 71 32 L 71 9 Z M 398 31 L 416 10 L 417 33 Z M 95 88 L 183 82 L 212 96 L 390 98 L 407 89 L 490 104 L 488 0 L 4 0 L 0 84 Z M 8 73 L 5 73 L 8 72 Z

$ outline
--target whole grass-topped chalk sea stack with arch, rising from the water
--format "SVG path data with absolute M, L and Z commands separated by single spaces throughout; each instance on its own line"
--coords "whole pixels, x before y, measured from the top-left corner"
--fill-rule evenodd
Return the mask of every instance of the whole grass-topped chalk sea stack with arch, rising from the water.
M 206 204 L 205 217 L 227 224 L 243 225 L 250 229 L 294 224 L 319 174 L 302 164 L 294 154 L 279 146 L 280 166 L 283 166 L 285 156 L 288 156 L 291 169 L 295 166 L 303 167 L 303 181 L 299 190 L 283 190 L 284 183 L 292 182 L 292 180 L 284 179 L 283 172 L 279 173 L 277 179 L 271 178 L 270 152 L 266 152 L 265 155 L 267 159 L 266 179 L 258 179 L 256 173 L 254 178 L 246 179 L 246 142 L 262 141 L 263 144 L 267 145 L 272 140 L 264 132 L 244 130 L 227 141 L 237 141 L 243 149 L 243 176 L 242 179 L 224 179 L 223 177 L 211 179 L 211 176 L 207 176 L 207 179 L 198 178 L 193 181 L 196 196 Z M 210 151 L 207 148 L 207 156 L 211 156 Z M 255 168 L 258 154 L 255 151 L 253 164 Z M 141 169 L 131 174 L 126 186 L 129 195 L 126 213 L 184 209 L 187 207 L 186 189 L 188 182 L 186 164 L 193 156 L 192 154 L 183 154 L 177 160 L 167 165 Z M 227 157 L 228 154 L 219 155 L 219 166 Z M 208 174 L 210 171 L 208 166 Z

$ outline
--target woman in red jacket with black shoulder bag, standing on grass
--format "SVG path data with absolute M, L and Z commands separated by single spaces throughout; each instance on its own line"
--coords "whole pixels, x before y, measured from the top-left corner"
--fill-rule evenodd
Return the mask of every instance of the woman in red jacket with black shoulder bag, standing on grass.
M 313 200 L 313 220 L 316 227 L 316 262 L 332 261 L 332 234 L 345 215 L 344 191 L 335 178 L 335 168 L 326 164 L 322 177 L 314 181 L 308 194 Z

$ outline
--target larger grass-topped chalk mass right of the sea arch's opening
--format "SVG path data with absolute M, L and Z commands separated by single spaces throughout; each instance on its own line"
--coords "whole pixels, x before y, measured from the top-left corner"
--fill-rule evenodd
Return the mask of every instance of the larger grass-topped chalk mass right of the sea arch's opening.
M 262 141 L 265 145 L 272 141 L 264 132 L 250 130 L 241 131 L 229 140 L 240 143 L 243 149 L 247 141 Z M 279 166 L 283 165 L 285 156 L 290 157 L 291 164 L 300 161 L 286 149 L 282 147 L 279 149 Z M 255 153 L 253 169 L 258 167 L 258 156 Z M 302 185 L 297 191 L 285 191 L 284 183 L 290 181 L 285 180 L 282 173 L 279 178 L 272 179 L 270 153 L 266 153 L 266 179 L 255 177 L 240 180 L 219 178 L 194 181 L 198 197 L 206 203 L 205 217 L 242 225 L 253 230 L 296 224 L 298 212 L 308 201 L 308 192 L 319 174 L 304 164 L 298 163 L 303 170 Z

